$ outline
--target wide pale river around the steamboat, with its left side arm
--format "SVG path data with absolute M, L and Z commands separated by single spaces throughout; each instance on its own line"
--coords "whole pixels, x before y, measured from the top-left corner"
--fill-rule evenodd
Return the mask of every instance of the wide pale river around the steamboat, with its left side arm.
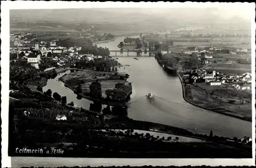
M 117 38 L 115 41 L 97 45 L 108 47 L 109 50 L 119 50 L 117 45 L 122 40 L 123 38 Z M 111 53 L 111 56 L 115 56 L 115 53 Z M 214 135 L 219 136 L 252 137 L 251 122 L 204 110 L 185 102 L 179 78 L 168 75 L 154 57 L 139 57 L 139 60 L 135 60 L 133 57 L 136 53 L 129 53 L 129 56 L 119 56 L 118 62 L 130 65 L 119 69 L 120 72 L 130 75 L 128 80 L 133 85 L 131 102 L 128 103 L 130 118 L 180 127 L 194 133 L 209 134 L 212 130 Z M 77 100 L 76 94 L 57 80 L 64 74 L 48 80 L 43 90 L 50 88 L 52 92 L 66 96 L 68 103 L 73 101 L 75 106 L 89 109 L 91 101 Z M 148 91 L 154 94 L 152 101 L 145 97 Z

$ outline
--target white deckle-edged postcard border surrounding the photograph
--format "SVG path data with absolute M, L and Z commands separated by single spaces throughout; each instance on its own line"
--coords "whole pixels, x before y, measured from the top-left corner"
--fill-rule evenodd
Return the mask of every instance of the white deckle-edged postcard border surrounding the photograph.
M 206 8 L 206 7 L 231 7 L 234 10 L 245 7 L 247 11 L 251 10 L 251 44 L 252 51 L 255 51 L 255 3 L 164 3 L 164 2 L 62 2 L 62 1 L 5 1 L 1 3 L 1 84 L 2 84 L 2 167 L 11 167 L 11 157 L 8 156 L 8 103 L 9 103 L 9 48 L 10 48 L 10 28 L 9 28 L 9 10 L 10 9 L 65 9 L 65 8 Z M 239 10 L 238 10 L 239 12 Z M 255 52 L 252 53 L 252 139 L 255 139 Z M 254 140 L 253 140 L 254 142 Z M 111 165 L 255 165 L 255 142 L 252 143 L 252 159 L 108 159 L 108 158 L 80 158 L 84 164 L 79 166 L 111 166 Z M 14 157 L 13 159 L 15 159 Z M 22 157 L 24 162 L 28 158 Z M 65 166 L 66 158 L 55 158 L 55 166 Z M 47 166 L 47 164 L 38 165 L 39 162 L 47 162 L 49 158 L 33 157 L 35 163 L 26 166 Z M 51 161 L 52 162 L 52 161 Z M 68 166 L 76 166 L 68 165 Z M 25 166 L 25 165 L 24 165 Z M 48 165 L 53 166 L 53 164 Z

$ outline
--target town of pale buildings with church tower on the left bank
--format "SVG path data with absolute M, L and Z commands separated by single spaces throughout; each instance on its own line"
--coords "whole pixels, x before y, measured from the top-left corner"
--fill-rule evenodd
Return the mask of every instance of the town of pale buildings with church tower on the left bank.
M 74 59 L 80 60 L 83 56 L 86 56 L 88 60 L 96 57 L 92 54 L 79 53 L 81 51 L 80 46 L 71 46 L 69 48 L 58 46 L 56 44 L 58 40 L 50 42 L 39 41 L 37 37 L 33 37 L 28 41 L 27 36 L 30 35 L 31 33 L 27 33 L 11 38 L 10 54 L 16 54 L 16 59 L 27 60 L 28 63 L 31 63 L 31 66 L 38 68 L 42 58 L 51 58 L 51 60 L 57 61 L 59 66 L 62 66 L 69 61 L 74 61 Z M 49 43 L 48 47 L 47 43 Z

